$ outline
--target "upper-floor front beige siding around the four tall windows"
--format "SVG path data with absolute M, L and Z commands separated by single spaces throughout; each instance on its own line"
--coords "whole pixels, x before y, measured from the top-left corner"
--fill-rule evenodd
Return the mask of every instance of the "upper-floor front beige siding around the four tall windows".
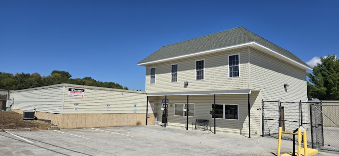
M 232 54 L 240 54 L 240 78 L 228 78 L 228 55 Z M 198 60 L 204 60 L 204 80 L 195 80 L 195 61 Z M 247 63 L 246 48 L 148 65 L 146 68 L 146 92 L 249 89 Z M 177 82 L 171 82 L 172 64 L 178 64 Z M 154 67 L 157 68 L 156 84 L 150 84 L 150 68 Z M 188 81 L 187 87 L 183 85 L 185 81 Z

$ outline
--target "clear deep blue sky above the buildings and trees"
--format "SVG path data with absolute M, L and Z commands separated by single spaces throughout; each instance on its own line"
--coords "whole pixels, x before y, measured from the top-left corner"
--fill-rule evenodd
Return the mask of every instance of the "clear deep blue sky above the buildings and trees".
M 0 72 L 60 70 L 145 90 L 139 61 L 164 45 L 238 26 L 308 62 L 338 56 L 338 6 L 336 0 L 1 0 Z

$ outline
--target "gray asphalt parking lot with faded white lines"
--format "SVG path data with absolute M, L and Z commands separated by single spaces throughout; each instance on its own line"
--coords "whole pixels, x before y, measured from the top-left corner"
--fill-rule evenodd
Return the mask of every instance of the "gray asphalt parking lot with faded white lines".
M 134 126 L 0 132 L 3 156 L 274 156 L 278 140 L 177 127 Z M 282 141 L 282 153 L 292 151 Z M 321 155 L 331 155 L 320 152 Z

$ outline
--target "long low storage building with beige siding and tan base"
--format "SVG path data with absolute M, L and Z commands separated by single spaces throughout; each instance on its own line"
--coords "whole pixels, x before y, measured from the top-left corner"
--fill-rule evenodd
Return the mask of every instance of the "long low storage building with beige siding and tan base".
M 75 84 L 56 84 L 10 92 L 17 113 L 36 110 L 36 117 L 60 128 L 146 125 L 147 95 L 143 91 Z M 148 121 L 155 121 L 149 107 Z

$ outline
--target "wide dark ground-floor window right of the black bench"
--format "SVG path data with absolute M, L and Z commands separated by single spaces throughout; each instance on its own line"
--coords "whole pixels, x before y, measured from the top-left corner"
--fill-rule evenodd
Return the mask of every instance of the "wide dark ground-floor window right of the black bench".
M 214 104 L 211 104 L 213 111 Z M 239 107 L 237 104 L 215 104 L 215 118 L 238 120 Z M 214 118 L 214 115 L 211 115 Z

